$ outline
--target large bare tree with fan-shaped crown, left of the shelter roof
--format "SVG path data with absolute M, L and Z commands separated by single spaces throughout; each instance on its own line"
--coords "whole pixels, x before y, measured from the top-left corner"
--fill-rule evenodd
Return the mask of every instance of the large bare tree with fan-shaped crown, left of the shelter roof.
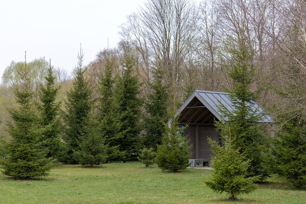
M 121 35 L 140 51 L 147 75 L 160 64 L 166 70 L 174 102 L 181 94 L 184 60 L 195 36 L 195 3 L 188 0 L 149 0 L 122 26 Z M 149 77 L 150 78 L 150 77 Z

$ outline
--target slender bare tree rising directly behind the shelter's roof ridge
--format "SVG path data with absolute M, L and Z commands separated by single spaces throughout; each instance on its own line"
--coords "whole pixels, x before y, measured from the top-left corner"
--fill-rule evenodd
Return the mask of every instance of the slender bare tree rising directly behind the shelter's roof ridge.
M 224 81 L 224 73 L 219 69 L 219 52 L 224 31 L 221 27 L 219 7 L 215 0 L 201 2 L 199 17 L 195 49 L 198 56 L 201 89 L 219 91 L 220 82 Z

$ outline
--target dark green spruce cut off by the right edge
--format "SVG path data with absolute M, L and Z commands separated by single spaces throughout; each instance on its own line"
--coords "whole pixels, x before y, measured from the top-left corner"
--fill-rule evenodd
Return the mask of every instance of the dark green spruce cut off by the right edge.
M 277 115 L 273 137 L 272 169 L 287 178 L 296 188 L 306 189 L 306 113 L 305 79 L 296 61 L 283 63 L 286 81 L 275 91 L 280 100 L 272 110 Z M 281 105 L 280 105 L 281 104 Z

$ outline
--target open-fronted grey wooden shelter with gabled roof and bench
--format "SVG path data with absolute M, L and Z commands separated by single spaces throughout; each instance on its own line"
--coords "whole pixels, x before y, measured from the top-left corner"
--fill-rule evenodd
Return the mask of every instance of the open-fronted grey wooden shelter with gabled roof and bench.
M 223 104 L 229 111 L 234 110 L 228 93 L 196 90 L 176 111 L 176 114 L 180 114 L 179 125 L 188 124 L 185 134 L 189 136 L 190 143 L 193 144 L 192 157 L 189 159 L 192 167 L 197 162 L 209 165 L 212 152 L 207 137 L 216 141 L 220 140 L 219 133 L 214 126 L 215 120 L 224 120 L 219 112 L 219 103 Z M 265 112 L 257 102 L 254 102 L 251 106 L 258 113 Z M 273 120 L 270 116 L 265 115 L 260 122 L 273 123 Z

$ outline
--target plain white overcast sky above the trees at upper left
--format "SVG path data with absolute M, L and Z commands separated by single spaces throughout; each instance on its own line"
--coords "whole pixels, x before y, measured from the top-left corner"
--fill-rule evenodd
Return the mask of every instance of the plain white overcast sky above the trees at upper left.
M 80 44 L 84 63 L 115 47 L 119 26 L 145 0 L 0 0 L 0 76 L 12 61 L 51 59 L 70 72 Z

